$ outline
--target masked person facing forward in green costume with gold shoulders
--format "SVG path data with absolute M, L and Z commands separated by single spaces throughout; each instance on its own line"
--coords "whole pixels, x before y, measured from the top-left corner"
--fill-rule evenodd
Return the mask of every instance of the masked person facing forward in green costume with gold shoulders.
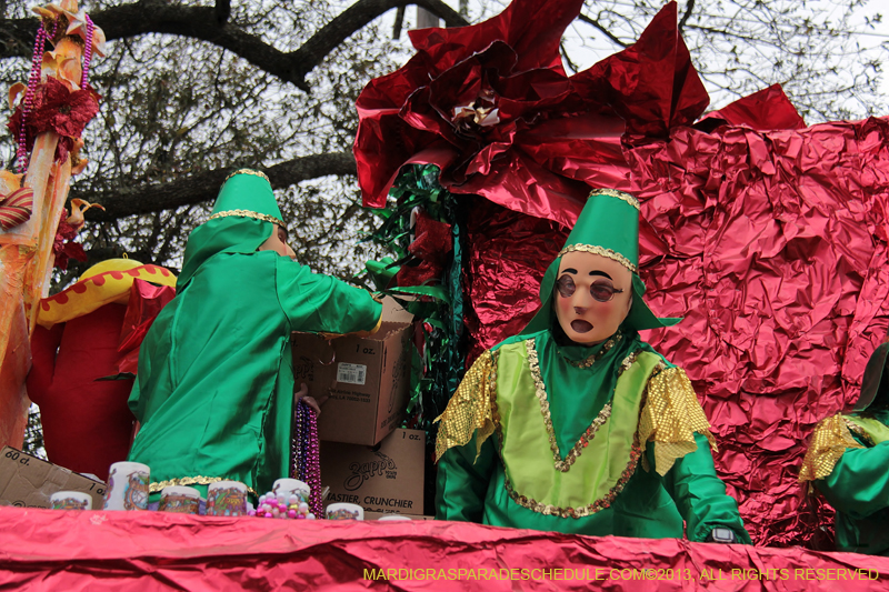
M 750 543 L 682 369 L 638 331 L 639 203 L 596 190 L 528 327 L 483 352 L 440 417 L 437 518 L 588 535 Z

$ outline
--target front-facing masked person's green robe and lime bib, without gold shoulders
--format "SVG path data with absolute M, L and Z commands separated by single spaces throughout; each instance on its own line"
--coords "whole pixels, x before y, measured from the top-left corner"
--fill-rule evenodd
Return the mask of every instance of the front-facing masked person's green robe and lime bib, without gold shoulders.
M 540 374 L 548 390 L 552 428 L 562 460 L 565 451 L 570 449 L 571 443 L 578 440 L 579 434 L 601 411 L 612 389 L 617 389 L 611 420 L 632 419 L 618 423 L 609 420 L 609 423 L 603 424 L 590 441 L 589 448 L 585 449 L 578 462 L 571 466 L 571 471 L 601 473 L 601 468 L 608 464 L 617 466 L 611 470 L 612 473 L 619 471 L 629 460 L 630 442 L 638 428 L 640 391 L 650 372 L 637 373 L 635 378 L 626 372 L 616 387 L 609 365 L 613 367 L 613 363 L 619 362 L 627 349 L 617 351 L 619 348 L 615 348 L 617 358 L 603 358 L 601 362 L 606 364 L 597 362 L 592 368 L 578 370 L 568 363 L 568 359 L 582 360 L 589 350 L 557 348 L 548 331 L 532 335 L 533 338 L 538 343 Z M 638 341 L 638 335 L 636 339 L 637 345 L 642 345 L 656 360 L 660 360 L 659 354 L 650 347 Z M 513 338 L 497 348 L 516 342 L 517 339 Z M 627 345 L 632 347 L 630 343 Z M 510 359 L 521 360 L 520 357 Z M 497 370 L 500 413 L 509 413 L 510 423 L 522 425 L 526 432 L 532 431 L 537 423 L 543 424 L 543 417 L 533 384 L 523 378 L 528 375 L 528 369 L 508 369 L 503 364 L 501 357 Z M 585 388 L 585 381 L 596 385 L 596 389 Z M 629 384 L 628 381 L 636 383 Z M 503 388 L 520 391 L 517 397 L 513 395 L 513 401 L 506 410 L 500 401 Z M 621 397 L 626 399 L 622 403 L 626 408 L 623 411 L 618 401 Z M 563 491 L 556 491 L 565 484 L 553 479 L 558 475 L 549 450 L 542 451 L 542 454 L 537 454 L 539 450 L 530 455 L 522 453 L 522 446 L 536 445 L 539 449 L 539 439 L 519 434 L 511 449 L 516 453 L 510 455 L 508 449 L 500 450 L 502 442 L 498 439 L 499 435 L 496 433 L 483 442 L 477 460 L 476 437 L 466 445 L 451 448 L 443 453 L 438 466 L 436 518 L 597 536 L 613 534 L 652 539 L 681 538 L 685 520 L 688 538 L 692 541 L 703 541 L 713 528 L 725 526 L 731 529 L 739 541 L 750 543 L 737 503 L 726 494 L 726 486 L 716 474 L 709 442 L 701 434 L 695 434 L 697 450 L 678 459 L 663 476 L 656 471 L 655 455 L 649 445 L 646 453 L 650 470 L 645 470 L 640 463 L 608 508 L 581 518 L 545 514 L 513 501 L 508 493 L 505 465 L 509 466 L 511 481 L 518 481 L 517 475 L 525 475 L 522 479 L 529 490 L 536 489 L 551 498 L 567 499 L 568 495 Z M 595 444 L 601 445 L 597 448 Z M 593 454 L 599 456 L 592 456 Z M 588 461 L 586 465 L 582 464 L 585 456 Z M 542 460 L 531 462 L 530 458 Z M 596 479 L 582 474 L 577 476 L 575 483 L 578 488 L 586 486 L 585 481 Z M 518 483 L 513 484 L 519 491 Z M 553 491 L 547 491 L 548 489 Z M 576 493 L 571 494 L 577 499 Z M 593 501 L 596 500 L 585 499 L 582 503 Z

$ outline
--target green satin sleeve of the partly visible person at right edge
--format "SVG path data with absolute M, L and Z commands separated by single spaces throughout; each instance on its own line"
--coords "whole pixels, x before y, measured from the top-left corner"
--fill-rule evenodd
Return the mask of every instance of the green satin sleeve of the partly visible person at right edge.
M 825 479 L 815 481 L 838 512 L 862 520 L 889 508 L 889 442 L 847 449 Z

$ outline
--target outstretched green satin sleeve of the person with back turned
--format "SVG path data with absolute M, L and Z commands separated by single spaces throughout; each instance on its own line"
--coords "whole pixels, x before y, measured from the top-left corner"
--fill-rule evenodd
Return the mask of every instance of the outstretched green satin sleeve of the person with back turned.
M 309 268 L 286 257 L 276 261 L 278 301 L 293 331 L 307 333 L 357 333 L 371 331 L 382 314 L 382 304 L 370 292 Z

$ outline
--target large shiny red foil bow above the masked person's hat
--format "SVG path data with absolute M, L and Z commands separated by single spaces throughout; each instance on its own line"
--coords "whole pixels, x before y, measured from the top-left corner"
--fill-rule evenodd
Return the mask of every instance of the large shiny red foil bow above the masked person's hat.
M 677 33 L 675 3 L 636 46 L 568 77 L 559 40 L 581 6 L 516 0 L 480 24 L 411 31 L 417 54 L 358 98 L 364 205 L 383 207 L 408 163 L 437 164 L 452 193 L 566 227 L 590 187 L 632 189 L 625 131 L 666 136 L 702 112 L 707 93 Z

